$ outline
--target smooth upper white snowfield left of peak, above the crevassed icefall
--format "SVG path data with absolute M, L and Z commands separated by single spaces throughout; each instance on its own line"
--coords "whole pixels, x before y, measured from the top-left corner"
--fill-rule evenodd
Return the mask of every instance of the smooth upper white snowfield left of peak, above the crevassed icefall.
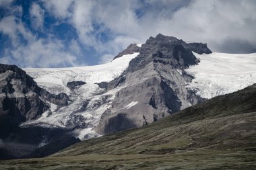
M 71 81 L 84 81 L 88 84 L 108 82 L 119 77 L 127 69 L 129 61 L 135 58 L 139 52 L 123 55 L 120 58 L 104 65 L 69 68 L 31 68 L 24 69 L 28 75 L 34 78 L 40 87 L 45 87 L 51 93 L 71 93 L 67 83 Z

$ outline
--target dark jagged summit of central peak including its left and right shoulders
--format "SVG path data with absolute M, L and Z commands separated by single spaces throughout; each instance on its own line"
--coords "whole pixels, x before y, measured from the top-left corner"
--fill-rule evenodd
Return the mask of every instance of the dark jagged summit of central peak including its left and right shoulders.
M 163 62 L 174 68 L 182 69 L 199 62 L 192 51 L 198 54 L 212 53 L 207 48 L 207 44 L 197 42 L 187 43 L 173 36 L 158 34 L 155 38 L 151 36 L 141 47 L 137 46 L 137 44 L 130 44 L 125 50 L 115 56 L 114 60 L 125 54 L 140 52 L 139 56 L 133 59 L 131 67 L 127 69 L 128 71 L 141 69 L 151 61 Z

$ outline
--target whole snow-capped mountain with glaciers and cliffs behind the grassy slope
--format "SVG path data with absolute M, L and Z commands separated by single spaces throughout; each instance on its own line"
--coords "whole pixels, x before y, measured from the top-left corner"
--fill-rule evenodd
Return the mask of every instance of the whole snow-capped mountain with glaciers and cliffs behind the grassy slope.
M 19 113 L 26 113 L 18 122 L 18 141 L 40 134 L 32 144 L 44 146 L 58 135 L 85 140 L 137 128 L 204 99 L 243 89 L 256 83 L 255 65 L 256 53 L 212 52 L 206 44 L 158 34 L 144 44 L 131 44 L 104 65 L 30 68 L 26 73 L 18 69 L 22 79 L 11 71 L 16 67 L 1 66 L 1 97 L 11 97 Z M 33 112 L 23 109 L 19 95 L 24 102 L 34 96 L 43 104 L 34 102 Z M 3 115 L 5 106 L 2 102 Z

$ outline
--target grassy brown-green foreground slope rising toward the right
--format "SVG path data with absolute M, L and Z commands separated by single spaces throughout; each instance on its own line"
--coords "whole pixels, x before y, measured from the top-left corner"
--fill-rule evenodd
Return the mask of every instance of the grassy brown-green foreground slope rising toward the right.
M 79 142 L 0 169 L 255 169 L 256 84 L 143 128 Z

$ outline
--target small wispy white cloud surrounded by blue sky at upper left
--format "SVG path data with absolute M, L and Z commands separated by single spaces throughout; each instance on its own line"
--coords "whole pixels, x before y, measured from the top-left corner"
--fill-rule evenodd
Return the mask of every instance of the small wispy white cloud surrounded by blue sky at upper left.
M 34 28 L 42 28 L 44 24 L 44 9 L 37 3 L 32 3 L 30 7 L 30 20 Z

